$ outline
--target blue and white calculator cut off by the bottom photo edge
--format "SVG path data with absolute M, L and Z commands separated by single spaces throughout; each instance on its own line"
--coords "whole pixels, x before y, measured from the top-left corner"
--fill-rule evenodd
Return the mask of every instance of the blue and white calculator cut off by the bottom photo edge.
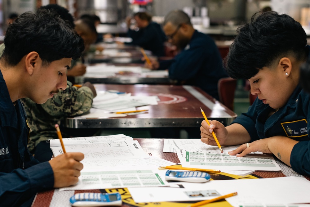
M 119 193 L 77 193 L 70 198 L 74 207 L 121 206 L 122 198 Z

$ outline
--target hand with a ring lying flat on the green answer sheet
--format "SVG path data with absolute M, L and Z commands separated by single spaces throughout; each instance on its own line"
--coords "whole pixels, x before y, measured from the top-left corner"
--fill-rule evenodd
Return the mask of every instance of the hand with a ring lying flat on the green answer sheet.
M 263 152 L 263 153 L 272 153 L 268 148 L 268 141 L 270 138 L 256 140 L 254 142 L 240 145 L 237 149 L 229 151 L 229 155 L 236 155 L 237 157 L 243 157 L 251 152 Z

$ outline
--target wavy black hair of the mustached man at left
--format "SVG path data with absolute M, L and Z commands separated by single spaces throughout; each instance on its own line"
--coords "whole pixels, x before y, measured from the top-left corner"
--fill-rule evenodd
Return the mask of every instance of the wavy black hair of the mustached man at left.
M 29 52 L 38 52 L 43 64 L 62 58 L 78 59 L 83 39 L 53 11 L 38 9 L 21 14 L 8 26 L 1 59 L 15 66 Z

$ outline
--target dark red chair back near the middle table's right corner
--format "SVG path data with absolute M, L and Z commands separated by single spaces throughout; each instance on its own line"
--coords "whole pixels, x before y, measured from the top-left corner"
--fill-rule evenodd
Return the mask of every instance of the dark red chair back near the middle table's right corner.
M 237 86 L 237 80 L 228 78 L 221 78 L 218 82 L 219 101 L 227 106 L 230 110 L 234 109 L 234 98 Z

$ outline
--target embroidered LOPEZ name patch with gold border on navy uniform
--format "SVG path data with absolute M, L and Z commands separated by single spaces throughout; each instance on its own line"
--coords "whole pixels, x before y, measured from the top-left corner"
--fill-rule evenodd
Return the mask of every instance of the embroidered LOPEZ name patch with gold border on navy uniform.
M 307 120 L 301 119 L 292 122 L 281 123 L 287 137 L 308 136 Z

